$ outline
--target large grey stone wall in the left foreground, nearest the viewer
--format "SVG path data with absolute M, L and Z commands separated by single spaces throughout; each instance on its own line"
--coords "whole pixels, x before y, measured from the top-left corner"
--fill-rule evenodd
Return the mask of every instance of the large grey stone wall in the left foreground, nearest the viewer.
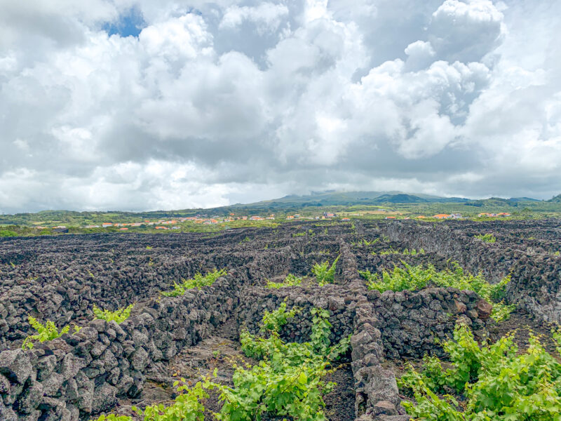
M 32 350 L 1 352 L 0 420 L 87 420 L 118 396 L 136 396 L 144 369 L 208 337 L 248 281 L 233 271 L 204 290 L 148 300 L 119 325 L 95 320 Z

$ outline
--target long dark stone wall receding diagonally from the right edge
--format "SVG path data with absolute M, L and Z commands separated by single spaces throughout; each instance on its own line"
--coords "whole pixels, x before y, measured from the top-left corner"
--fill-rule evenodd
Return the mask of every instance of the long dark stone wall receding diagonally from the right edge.
M 465 222 L 466 225 L 468 223 Z M 515 223 L 520 224 L 522 232 L 525 232 L 522 228 L 529 224 L 519 221 L 511 225 Z M 540 226 L 545 222 L 531 223 Z M 533 248 L 527 247 L 534 240 L 503 235 L 499 236 L 496 243 L 485 243 L 466 234 L 469 229 L 458 229 L 461 225 L 393 222 L 381 223 L 379 227 L 371 227 L 370 231 L 381 232 L 404 247 L 424 248 L 446 260 L 455 260 L 468 272 L 481 272 L 489 282 L 498 282 L 510 274 L 511 282 L 506 287 L 508 303 L 517 305 L 543 321 L 561 323 L 561 257 L 550 253 L 554 245 L 561 248 L 558 230 L 546 229 L 542 232 L 542 236 L 548 238 L 548 253 L 534 253 Z M 499 228 L 498 223 L 487 225 Z M 472 235 L 485 232 L 487 225 L 472 227 Z M 369 229 L 363 230 L 369 232 Z

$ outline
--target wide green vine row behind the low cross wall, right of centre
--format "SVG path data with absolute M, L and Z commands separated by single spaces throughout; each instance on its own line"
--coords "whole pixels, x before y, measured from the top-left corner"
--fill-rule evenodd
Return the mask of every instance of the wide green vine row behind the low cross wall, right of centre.
M 452 262 L 452 269 L 442 271 L 428 264 L 408 265 L 401 262 L 403 267 L 394 266 L 393 271 L 384 270 L 381 274 L 372 274 L 370 271 L 359 271 L 367 281 L 367 287 L 371 290 L 379 290 L 381 293 L 387 290 L 420 290 L 426 286 L 440 286 L 442 288 L 457 288 L 459 290 L 472 290 L 488 302 L 494 302 L 492 318 L 496 321 L 508 319 L 515 309 L 514 305 L 505 305 L 501 302 L 504 298 L 506 285 L 511 281 L 511 276 L 506 276 L 499 283 L 489 283 L 482 274 L 474 276 L 464 272 L 457 262 Z

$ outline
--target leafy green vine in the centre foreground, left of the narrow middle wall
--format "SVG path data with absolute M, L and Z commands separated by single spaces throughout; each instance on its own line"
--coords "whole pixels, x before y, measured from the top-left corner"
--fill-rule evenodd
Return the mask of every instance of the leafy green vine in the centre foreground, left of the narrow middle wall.
M 283 303 L 273 312 L 266 312 L 262 334 L 241 333 L 242 350 L 247 356 L 260 359 L 257 366 L 234 366 L 234 387 L 209 382 L 218 389 L 224 402 L 221 421 L 260 421 L 265 413 L 273 417 L 291 417 L 299 421 L 325 421 L 323 396 L 334 383 L 323 377 L 332 369 L 330 364 L 346 352 L 350 338 L 331 345 L 329 312 L 313 309 L 311 340 L 302 344 L 285 342 L 280 327 L 295 316 L 298 309 L 286 310 Z

